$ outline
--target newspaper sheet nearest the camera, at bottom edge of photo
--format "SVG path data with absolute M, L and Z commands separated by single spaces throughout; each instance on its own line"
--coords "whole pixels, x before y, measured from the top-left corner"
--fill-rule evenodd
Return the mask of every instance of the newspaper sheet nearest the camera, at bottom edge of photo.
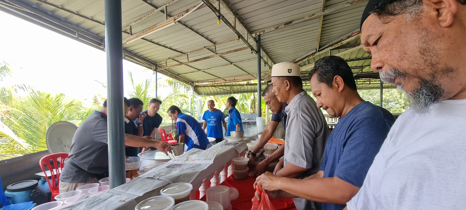
M 62 210 L 134 210 L 136 205 L 137 202 L 130 197 L 99 193 Z

